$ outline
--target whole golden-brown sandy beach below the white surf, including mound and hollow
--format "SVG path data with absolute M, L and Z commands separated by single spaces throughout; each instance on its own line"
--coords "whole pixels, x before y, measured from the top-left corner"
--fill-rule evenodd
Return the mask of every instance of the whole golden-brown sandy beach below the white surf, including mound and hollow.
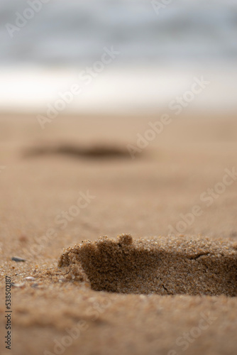
M 237 122 L 177 117 L 131 159 L 158 118 L 1 116 L 1 354 L 236 354 Z

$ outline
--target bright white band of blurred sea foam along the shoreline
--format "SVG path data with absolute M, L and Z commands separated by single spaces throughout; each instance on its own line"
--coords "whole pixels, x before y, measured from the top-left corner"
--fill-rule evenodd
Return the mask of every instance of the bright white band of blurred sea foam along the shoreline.
M 194 77 L 210 82 L 203 92 L 189 103 L 189 109 L 237 109 L 237 70 L 218 72 L 215 68 L 170 70 L 169 67 L 106 68 L 91 84 L 78 79 L 83 68 L 74 70 L 43 70 L 35 67 L 0 70 L 1 111 L 46 111 L 72 84 L 82 92 L 66 105 L 67 112 L 127 113 L 158 111 L 168 107 L 171 100 L 187 92 Z

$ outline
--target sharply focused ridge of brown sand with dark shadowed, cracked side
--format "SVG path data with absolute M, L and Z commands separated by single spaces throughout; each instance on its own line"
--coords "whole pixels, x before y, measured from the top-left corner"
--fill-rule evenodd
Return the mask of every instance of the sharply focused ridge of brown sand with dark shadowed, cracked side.
M 68 248 L 58 266 L 93 290 L 159 295 L 237 295 L 237 247 L 231 241 L 106 236 Z

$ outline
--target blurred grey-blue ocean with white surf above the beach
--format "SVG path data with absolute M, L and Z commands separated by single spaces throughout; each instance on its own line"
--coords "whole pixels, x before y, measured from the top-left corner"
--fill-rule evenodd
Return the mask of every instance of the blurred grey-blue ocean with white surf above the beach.
M 201 75 L 194 107 L 236 109 L 237 1 L 165 2 L 1 0 L 0 110 L 43 110 L 111 46 L 120 54 L 67 111 L 157 110 Z

